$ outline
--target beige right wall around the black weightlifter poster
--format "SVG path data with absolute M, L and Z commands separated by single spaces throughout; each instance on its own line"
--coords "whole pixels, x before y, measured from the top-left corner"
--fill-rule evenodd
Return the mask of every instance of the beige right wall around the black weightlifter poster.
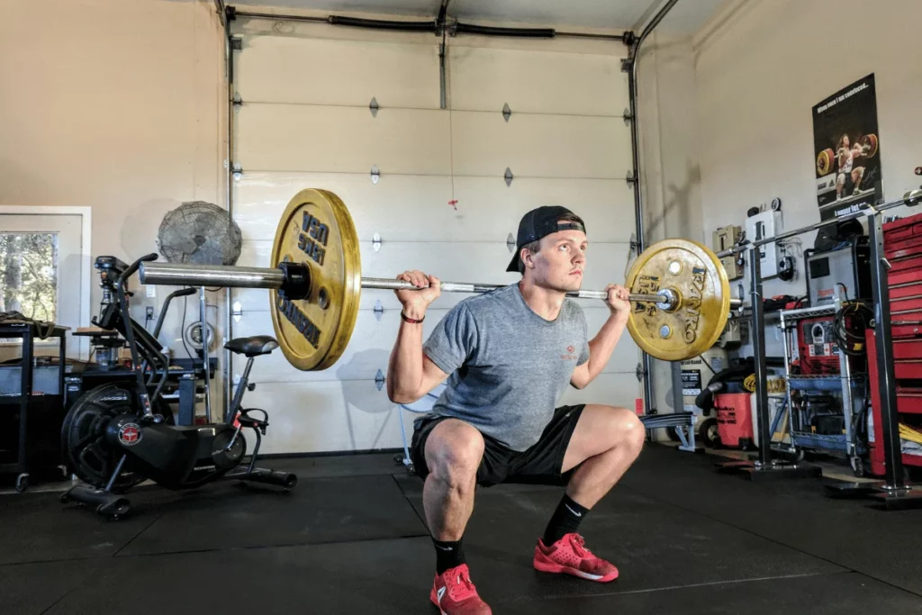
M 884 198 L 917 187 L 920 18 L 917 0 L 735 1 L 712 18 L 695 37 L 700 238 L 743 224 L 749 207 L 774 196 L 784 203 L 784 228 L 818 221 L 811 109 L 870 73 L 877 81 Z M 902 207 L 895 213 L 906 214 Z M 814 237 L 803 235 L 803 247 L 812 247 Z M 764 290 L 802 294 L 802 271 L 789 283 L 768 280 Z

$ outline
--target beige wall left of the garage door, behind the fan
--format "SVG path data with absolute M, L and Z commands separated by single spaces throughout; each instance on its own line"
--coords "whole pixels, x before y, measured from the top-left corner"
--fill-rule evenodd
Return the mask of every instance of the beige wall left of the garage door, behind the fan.
M 160 220 L 183 201 L 222 205 L 224 43 L 214 8 L 211 0 L 2 3 L 0 203 L 92 207 L 91 254 L 126 262 L 157 252 Z M 91 282 L 95 315 L 95 271 Z M 136 295 L 136 318 L 143 322 L 145 305 L 159 310 L 167 292 Z M 182 314 L 173 307 L 171 316 L 162 338 L 185 356 Z

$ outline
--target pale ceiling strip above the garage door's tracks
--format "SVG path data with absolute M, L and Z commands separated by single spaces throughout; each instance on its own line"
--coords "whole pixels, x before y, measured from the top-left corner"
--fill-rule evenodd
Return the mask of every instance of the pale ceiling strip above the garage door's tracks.
M 725 0 L 679 0 L 663 30 L 698 30 Z M 450 0 L 448 15 L 468 22 L 523 23 L 564 28 L 641 30 L 666 0 Z M 225 0 L 227 5 L 319 10 L 330 14 L 375 13 L 434 18 L 441 0 Z

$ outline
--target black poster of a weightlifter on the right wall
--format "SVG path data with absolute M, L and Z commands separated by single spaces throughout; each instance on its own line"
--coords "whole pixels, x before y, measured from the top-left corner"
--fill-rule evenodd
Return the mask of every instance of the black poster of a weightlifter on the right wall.
M 821 219 L 844 216 L 882 200 L 873 74 L 813 107 L 813 148 Z

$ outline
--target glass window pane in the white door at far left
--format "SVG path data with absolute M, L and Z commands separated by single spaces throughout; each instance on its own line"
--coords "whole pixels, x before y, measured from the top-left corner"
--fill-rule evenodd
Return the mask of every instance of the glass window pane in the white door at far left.
M 54 322 L 57 316 L 58 234 L 0 233 L 0 313 Z

